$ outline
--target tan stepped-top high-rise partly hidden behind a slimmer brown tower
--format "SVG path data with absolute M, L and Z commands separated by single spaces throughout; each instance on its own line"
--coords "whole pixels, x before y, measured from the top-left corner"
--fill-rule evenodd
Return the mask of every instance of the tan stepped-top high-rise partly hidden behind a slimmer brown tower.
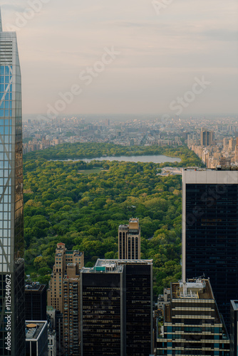
M 81 269 L 84 266 L 84 253 L 68 251 L 66 245 L 60 242 L 57 244 L 55 264 L 47 291 L 47 305 L 51 305 L 61 313 L 63 313 L 63 278 L 66 275 L 68 263 L 76 263 Z

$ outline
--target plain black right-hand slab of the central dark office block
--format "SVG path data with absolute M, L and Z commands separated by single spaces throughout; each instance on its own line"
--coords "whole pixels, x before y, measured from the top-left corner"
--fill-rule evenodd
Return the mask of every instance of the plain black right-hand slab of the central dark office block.
M 126 355 L 146 356 L 153 352 L 152 261 L 119 261 L 125 268 Z

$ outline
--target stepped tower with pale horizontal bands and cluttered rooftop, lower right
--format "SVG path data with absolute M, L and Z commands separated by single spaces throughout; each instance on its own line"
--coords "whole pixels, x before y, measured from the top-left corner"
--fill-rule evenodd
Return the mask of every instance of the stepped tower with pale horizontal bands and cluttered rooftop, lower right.
M 229 356 L 229 337 L 207 279 L 171 283 L 157 330 L 157 355 Z

